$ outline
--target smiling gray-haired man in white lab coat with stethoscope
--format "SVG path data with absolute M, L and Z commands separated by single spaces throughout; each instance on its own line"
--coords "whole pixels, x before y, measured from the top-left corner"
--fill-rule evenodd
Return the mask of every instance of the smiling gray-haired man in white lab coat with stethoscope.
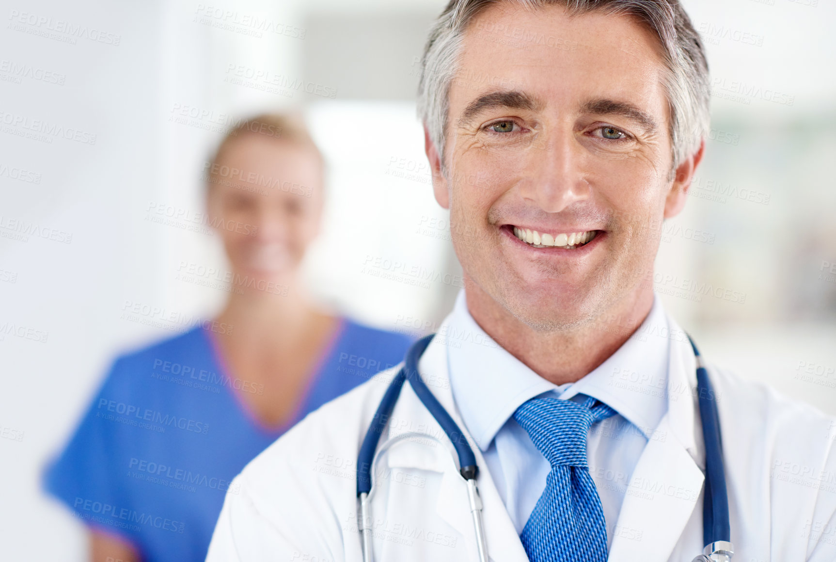
M 422 64 L 466 289 L 239 475 L 209 559 L 836 559 L 836 423 L 706 371 L 645 282 L 708 124 L 681 5 L 452 0 Z

